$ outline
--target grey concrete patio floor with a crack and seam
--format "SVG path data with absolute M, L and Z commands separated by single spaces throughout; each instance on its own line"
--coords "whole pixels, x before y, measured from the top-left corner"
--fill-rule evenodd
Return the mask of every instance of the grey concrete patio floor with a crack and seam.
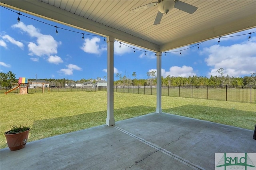
M 213 170 L 217 152 L 256 152 L 253 131 L 167 113 L 0 150 L 1 170 Z

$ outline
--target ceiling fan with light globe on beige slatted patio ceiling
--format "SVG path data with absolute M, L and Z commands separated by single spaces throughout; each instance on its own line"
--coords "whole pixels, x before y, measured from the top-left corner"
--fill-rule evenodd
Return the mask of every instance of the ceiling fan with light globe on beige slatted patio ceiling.
M 138 8 L 134 8 L 130 10 L 130 12 L 138 12 L 152 6 L 158 6 L 158 13 L 156 15 L 154 25 L 160 24 L 162 16 L 164 14 L 166 15 L 173 8 L 188 12 L 189 14 L 193 14 L 197 10 L 197 7 L 185 2 L 181 2 L 179 0 L 158 0 L 157 2 L 152 2 L 143 6 L 139 6 Z

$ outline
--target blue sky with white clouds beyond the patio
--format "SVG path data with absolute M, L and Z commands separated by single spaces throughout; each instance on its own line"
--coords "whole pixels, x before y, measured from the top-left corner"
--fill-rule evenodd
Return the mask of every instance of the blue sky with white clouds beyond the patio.
M 15 10 L 14 10 L 15 11 Z M 19 12 L 19 11 L 15 11 Z M 12 71 L 18 77 L 54 78 L 54 79 L 96 79 L 107 75 L 107 43 L 103 37 L 84 35 L 90 34 L 62 24 L 44 20 L 36 16 L 22 13 L 36 20 L 20 15 L 0 7 L 0 71 Z M 73 30 L 58 29 L 48 24 Z M 208 40 L 197 46 L 189 45 L 167 51 L 162 54 L 162 76 L 206 76 L 217 75 L 220 67 L 224 68 L 224 75 L 231 77 L 250 76 L 256 72 L 256 28 L 231 34 L 230 38 Z M 147 79 L 147 72 L 156 71 L 156 56 L 147 53 L 145 49 L 122 42 L 114 43 L 114 74 L 136 79 Z M 190 49 L 186 49 L 192 47 Z M 134 49 L 135 48 L 135 53 Z M 139 51 L 140 49 L 143 51 Z M 181 51 L 181 55 L 179 50 Z M 116 76 L 114 76 L 116 80 Z

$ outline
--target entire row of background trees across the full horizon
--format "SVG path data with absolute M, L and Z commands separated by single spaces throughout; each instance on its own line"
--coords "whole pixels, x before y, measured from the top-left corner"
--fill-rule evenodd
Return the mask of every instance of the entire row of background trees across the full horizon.
M 254 85 L 256 86 L 256 73 L 252 73 L 251 76 L 244 77 L 230 77 L 229 75 L 224 75 L 224 69 L 220 68 L 217 70 L 220 73 L 220 76 L 189 76 L 189 77 L 174 77 L 168 75 L 167 77 L 162 77 L 162 86 L 188 86 L 188 85 L 205 85 L 205 86 L 246 86 Z M 156 85 L 156 71 L 147 72 L 147 79 L 136 79 L 136 72 L 132 73 L 132 79 L 129 76 L 122 76 L 120 73 L 116 74 L 116 81 L 114 85 L 118 86 L 154 86 Z M 35 81 L 36 79 L 29 79 L 30 81 Z M 84 83 L 91 81 L 96 83 L 99 80 L 106 80 L 106 76 L 103 78 L 97 77 L 96 79 L 40 79 L 45 80 L 46 83 L 49 83 L 50 86 L 54 85 L 56 87 L 65 87 L 66 84 L 72 85 L 74 83 Z M 18 83 L 18 79 L 15 78 L 15 74 L 12 71 L 8 73 L 0 73 L 0 87 L 10 89 L 13 87 L 13 83 Z

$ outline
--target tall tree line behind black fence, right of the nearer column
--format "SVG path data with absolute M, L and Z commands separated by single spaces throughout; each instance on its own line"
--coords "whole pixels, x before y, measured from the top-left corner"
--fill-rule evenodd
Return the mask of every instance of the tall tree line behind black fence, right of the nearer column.
M 246 86 L 246 85 L 256 85 L 256 73 L 251 73 L 251 76 L 244 77 L 230 77 L 229 75 L 224 76 L 224 69 L 220 68 L 217 70 L 220 76 L 188 76 L 188 77 L 174 77 L 166 76 L 162 77 L 162 86 L 188 86 L 188 85 L 204 85 L 204 86 Z M 132 73 L 133 79 L 129 79 L 125 75 L 117 73 L 116 77 L 119 80 L 114 81 L 114 85 L 123 86 L 145 86 L 145 85 L 156 85 L 156 71 L 147 72 L 147 79 L 136 79 L 136 72 Z

